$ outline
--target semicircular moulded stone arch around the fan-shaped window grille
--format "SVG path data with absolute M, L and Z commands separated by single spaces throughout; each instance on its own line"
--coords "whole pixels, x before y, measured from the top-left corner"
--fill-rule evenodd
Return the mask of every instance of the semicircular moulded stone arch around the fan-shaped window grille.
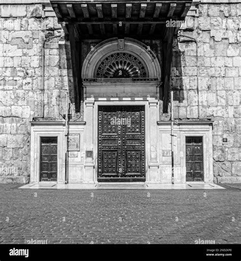
M 145 44 L 131 38 L 105 40 L 86 56 L 82 67 L 82 78 L 96 78 L 96 68 L 100 60 L 119 51 L 136 56 L 144 64 L 147 77 L 160 80 L 161 69 L 158 59 L 152 50 L 147 51 L 147 49 Z

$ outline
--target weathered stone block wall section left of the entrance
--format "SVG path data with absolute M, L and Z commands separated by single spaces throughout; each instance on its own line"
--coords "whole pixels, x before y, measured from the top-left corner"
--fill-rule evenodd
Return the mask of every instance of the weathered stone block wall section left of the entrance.
M 1 5 L 0 182 L 26 182 L 30 170 L 30 124 L 43 117 L 42 46 L 46 34 L 63 34 L 55 17 L 42 17 L 42 5 Z M 63 40 L 63 39 L 62 39 Z M 45 120 L 62 120 L 68 46 L 58 38 L 45 44 Z M 59 58 L 61 57 L 61 58 Z

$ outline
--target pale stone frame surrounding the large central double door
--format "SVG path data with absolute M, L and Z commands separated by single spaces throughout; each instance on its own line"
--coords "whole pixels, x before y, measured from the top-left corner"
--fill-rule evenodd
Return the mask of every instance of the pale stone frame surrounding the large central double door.
M 84 120 L 86 121 L 85 128 L 85 142 L 86 150 L 93 150 L 92 162 L 87 162 L 85 168 L 86 182 L 98 183 L 98 106 L 145 106 L 145 168 L 146 181 L 145 183 L 159 183 L 159 137 L 157 121 L 159 119 L 159 101 L 153 98 L 136 98 L 131 100 L 110 98 L 99 98 L 95 100 L 94 97 L 85 100 Z M 150 139 L 152 134 L 152 139 Z

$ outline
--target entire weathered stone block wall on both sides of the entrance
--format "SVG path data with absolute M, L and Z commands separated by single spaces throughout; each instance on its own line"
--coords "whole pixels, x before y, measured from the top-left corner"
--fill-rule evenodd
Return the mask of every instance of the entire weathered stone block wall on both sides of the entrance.
M 29 121 L 43 117 L 43 41 L 46 35 L 63 31 L 56 17 L 42 16 L 41 4 L 0 7 L 0 182 L 26 182 Z M 199 16 L 187 16 L 180 32 L 197 39 L 198 58 L 195 42 L 180 37 L 173 44 L 174 117 L 214 121 L 214 175 L 218 182 L 241 181 L 240 10 L 240 4 L 202 3 Z M 45 44 L 45 120 L 63 120 L 68 88 L 73 97 L 69 44 L 60 39 Z M 161 59 L 160 46 L 145 43 Z M 82 59 L 89 44 L 82 44 Z M 161 120 L 169 118 L 169 113 L 160 113 Z M 228 142 L 223 143 L 223 138 Z

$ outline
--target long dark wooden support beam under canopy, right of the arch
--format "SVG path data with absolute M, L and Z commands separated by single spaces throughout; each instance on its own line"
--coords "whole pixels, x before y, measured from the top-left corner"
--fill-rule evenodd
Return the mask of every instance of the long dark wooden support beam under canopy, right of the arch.
M 163 93 L 163 112 L 168 112 L 168 102 L 170 93 L 170 75 L 171 75 L 171 62 L 172 62 L 172 44 L 174 36 L 174 27 L 167 28 L 167 42 L 165 43 L 164 52 L 164 93 Z

